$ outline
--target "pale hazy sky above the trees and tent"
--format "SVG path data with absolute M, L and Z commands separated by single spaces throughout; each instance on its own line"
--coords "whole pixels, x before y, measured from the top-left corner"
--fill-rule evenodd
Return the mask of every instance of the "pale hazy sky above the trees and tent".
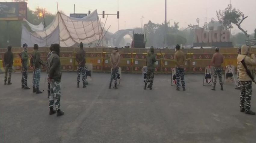
M 1 0 L 2 1 L 2 0 Z M 10 0 L 9 0 L 10 1 Z M 57 12 L 57 4 L 59 10 L 65 14 L 73 13 L 73 5 L 76 4 L 76 13 L 87 13 L 88 10 L 97 9 L 98 13 L 116 14 L 117 0 L 28 0 L 28 7 L 35 9 L 36 7 L 46 8 L 51 13 Z M 196 24 L 196 18 L 200 19 L 200 26 L 212 17 L 217 20 L 216 10 L 224 9 L 230 3 L 230 0 L 167 0 L 167 21 L 179 22 L 180 28 L 187 27 L 188 24 Z M 248 18 L 242 23 L 242 28 L 253 33 L 256 28 L 256 0 L 231 0 L 233 7 L 240 9 Z M 119 0 L 119 29 L 128 29 L 140 27 L 140 18 L 144 16 L 143 23 L 151 20 L 153 23 L 163 23 L 165 20 L 165 0 Z M 101 21 L 102 16 L 99 16 Z M 110 26 L 110 32 L 117 31 L 116 16 L 109 16 L 106 27 Z M 235 28 L 233 32 L 239 32 Z

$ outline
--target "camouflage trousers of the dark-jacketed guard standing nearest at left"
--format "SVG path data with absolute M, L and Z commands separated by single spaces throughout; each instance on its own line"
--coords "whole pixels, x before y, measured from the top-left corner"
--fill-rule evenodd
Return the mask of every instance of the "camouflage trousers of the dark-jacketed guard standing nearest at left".
M 51 80 L 51 94 L 49 97 L 49 108 L 55 104 L 56 110 L 60 110 L 60 82 Z

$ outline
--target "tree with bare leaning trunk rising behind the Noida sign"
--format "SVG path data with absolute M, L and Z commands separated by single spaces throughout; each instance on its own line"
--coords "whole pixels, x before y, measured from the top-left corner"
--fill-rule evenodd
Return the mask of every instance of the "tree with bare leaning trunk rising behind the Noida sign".
M 241 23 L 248 16 L 245 16 L 239 9 L 233 8 L 232 5 L 228 5 L 228 7 L 225 8 L 225 10 L 219 10 L 216 11 L 216 13 L 218 20 L 224 26 L 225 29 L 232 29 L 232 24 L 235 24 L 238 27 L 238 29 L 240 29 L 245 34 L 245 36 L 249 38 L 247 31 L 242 29 L 241 27 Z

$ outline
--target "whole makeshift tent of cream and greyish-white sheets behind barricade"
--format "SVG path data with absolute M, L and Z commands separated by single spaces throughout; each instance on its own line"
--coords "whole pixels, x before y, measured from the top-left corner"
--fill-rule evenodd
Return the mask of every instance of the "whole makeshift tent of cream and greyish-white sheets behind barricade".
M 33 47 L 35 41 L 41 47 L 49 47 L 53 42 L 59 43 L 61 47 L 71 47 L 80 42 L 88 44 L 102 38 L 97 10 L 83 18 L 68 17 L 58 12 L 52 23 L 45 28 L 42 28 L 42 23 L 36 26 L 24 21 L 33 32 L 22 26 L 21 45 L 27 43 L 29 47 Z

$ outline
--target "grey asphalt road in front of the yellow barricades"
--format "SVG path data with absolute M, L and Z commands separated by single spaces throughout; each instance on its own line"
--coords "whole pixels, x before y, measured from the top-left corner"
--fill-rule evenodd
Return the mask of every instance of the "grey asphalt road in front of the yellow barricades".
M 187 91 L 170 86 L 170 75 L 155 75 L 143 90 L 141 74 L 123 74 L 118 90 L 109 73 L 93 73 L 87 88 L 76 88 L 76 73 L 64 72 L 61 109 L 49 115 L 45 73 L 40 95 L 21 89 L 21 74 L 4 85 L 0 74 L 0 142 L 4 143 L 247 143 L 256 142 L 256 116 L 239 112 L 239 90 L 202 86 L 203 75 L 186 75 Z M 32 87 L 32 74 L 29 73 Z M 255 85 L 252 110 L 256 111 Z

